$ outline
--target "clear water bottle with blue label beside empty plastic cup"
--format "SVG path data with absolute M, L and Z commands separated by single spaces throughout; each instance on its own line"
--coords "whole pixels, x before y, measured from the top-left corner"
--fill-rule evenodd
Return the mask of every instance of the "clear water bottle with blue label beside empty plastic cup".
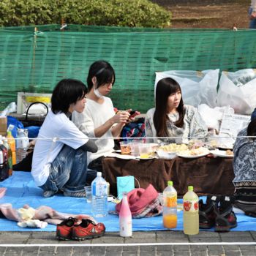
M 108 184 L 100 172 L 91 182 L 91 212 L 94 217 L 105 217 L 108 214 Z

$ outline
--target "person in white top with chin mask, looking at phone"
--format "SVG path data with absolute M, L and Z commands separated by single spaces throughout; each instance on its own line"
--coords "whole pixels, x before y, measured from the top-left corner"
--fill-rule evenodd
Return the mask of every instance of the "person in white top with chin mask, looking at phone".
M 99 138 L 95 140 L 97 153 L 88 154 L 88 167 L 92 170 L 102 171 L 102 157 L 113 152 L 112 138 L 120 135 L 130 116 L 128 111 L 115 114 L 111 99 L 106 97 L 115 80 L 115 71 L 107 61 L 91 64 L 87 77 L 86 109 L 83 113 L 72 114 L 72 121 L 80 131 L 89 138 Z

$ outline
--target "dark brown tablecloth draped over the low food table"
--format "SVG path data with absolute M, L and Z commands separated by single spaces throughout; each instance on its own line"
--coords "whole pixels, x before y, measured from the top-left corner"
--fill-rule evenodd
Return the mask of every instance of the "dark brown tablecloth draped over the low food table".
M 146 188 L 148 184 L 152 184 L 158 192 L 162 192 L 170 180 L 178 195 L 184 195 L 189 185 L 194 186 L 197 195 L 232 195 L 234 192 L 232 158 L 176 157 L 172 160 L 138 161 L 106 157 L 102 160 L 102 165 L 113 195 L 116 195 L 116 177 L 129 175 L 138 179 L 140 187 Z M 135 187 L 138 187 L 137 181 Z

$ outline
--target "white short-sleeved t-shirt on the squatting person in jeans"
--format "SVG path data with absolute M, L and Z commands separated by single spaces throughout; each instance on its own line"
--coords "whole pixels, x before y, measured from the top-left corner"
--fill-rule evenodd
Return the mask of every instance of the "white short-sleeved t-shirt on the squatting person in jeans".
M 54 114 L 52 111 L 46 116 L 37 138 L 31 170 L 37 186 L 45 184 L 50 163 L 56 159 L 65 144 L 77 149 L 89 140 L 64 113 Z M 56 143 L 53 143 L 53 138 L 58 138 Z

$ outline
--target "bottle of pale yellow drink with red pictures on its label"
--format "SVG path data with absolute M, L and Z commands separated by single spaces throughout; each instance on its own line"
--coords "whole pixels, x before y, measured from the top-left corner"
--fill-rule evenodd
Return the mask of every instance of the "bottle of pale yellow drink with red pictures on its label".
M 189 186 L 183 197 L 183 225 L 186 235 L 199 233 L 198 197 L 193 191 L 193 186 Z

